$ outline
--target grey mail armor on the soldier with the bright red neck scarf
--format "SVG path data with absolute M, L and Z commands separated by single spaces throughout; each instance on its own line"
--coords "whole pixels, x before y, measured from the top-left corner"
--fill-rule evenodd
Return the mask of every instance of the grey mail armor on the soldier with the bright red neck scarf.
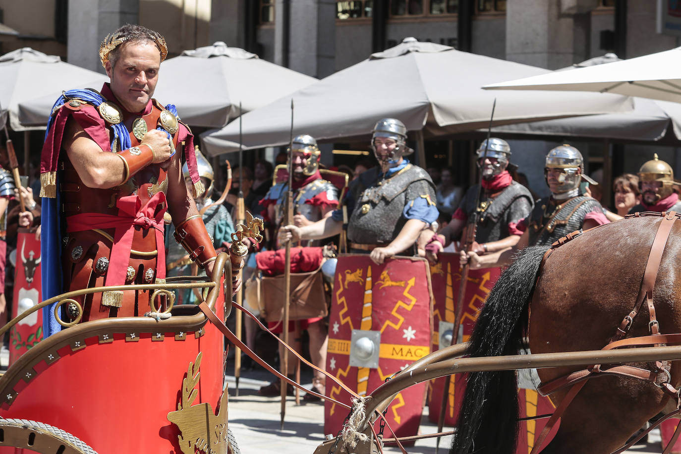
M 534 207 L 530 191 L 522 184 L 513 181 L 497 194 L 480 193 L 480 204 L 475 206 L 479 185 L 466 191 L 462 200 L 462 210 L 471 219 L 471 214 L 479 207 L 480 217 L 475 231 L 475 241 L 479 244 L 498 241 L 511 235 L 509 223 L 517 223 L 526 218 Z

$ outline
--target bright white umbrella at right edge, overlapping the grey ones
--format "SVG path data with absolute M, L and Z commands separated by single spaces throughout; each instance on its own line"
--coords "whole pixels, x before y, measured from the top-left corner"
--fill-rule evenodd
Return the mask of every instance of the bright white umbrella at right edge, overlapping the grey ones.
M 681 102 L 681 47 L 634 59 L 560 71 L 507 82 L 488 89 L 597 91 Z

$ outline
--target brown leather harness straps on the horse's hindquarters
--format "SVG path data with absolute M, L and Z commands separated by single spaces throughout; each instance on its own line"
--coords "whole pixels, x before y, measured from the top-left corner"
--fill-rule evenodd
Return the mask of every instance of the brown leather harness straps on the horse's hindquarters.
M 681 218 L 681 214 L 674 211 L 668 213 L 641 212 L 630 214 L 626 217 L 629 218 L 640 216 L 662 216 L 662 221 L 657 229 L 657 233 L 655 234 L 655 238 L 650 248 L 648 262 L 646 263 L 646 271 L 644 272 L 641 289 L 639 290 L 638 296 L 636 298 L 636 303 L 631 312 L 629 312 L 629 314 L 627 314 L 627 316 L 625 316 L 624 319 L 622 319 L 622 323 L 620 323 L 620 326 L 617 327 L 614 336 L 610 340 L 609 344 L 603 347 L 603 350 L 612 350 L 614 348 L 632 346 L 681 344 L 681 334 L 660 333 L 660 327 L 656 317 L 655 306 L 652 301 L 652 291 L 654 289 L 655 280 L 657 278 L 657 273 L 662 260 L 662 255 L 665 250 L 665 245 L 667 244 L 667 239 L 669 238 L 669 233 L 671 232 L 671 227 L 674 225 L 674 221 Z M 569 233 L 567 236 L 560 238 L 560 240 L 552 244 L 551 248 L 546 251 L 541 261 L 541 266 L 539 269 L 541 270 L 541 267 L 543 267 L 546 259 L 548 259 L 551 253 L 556 248 L 558 248 L 558 246 L 561 246 L 566 242 L 569 242 L 570 240 L 577 238 L 577 236 L 580 236 L 581 234 L 582 231 L 575 231 L 573 233 Z M 646 302 L 646 305 L 648 306 L 648 313 L 650 314 L 650 322 L 648 323 L 650 336 L 624 338 L 625 336 L 627 336 L 627 333 L 629 332 L 629 329 L 633 324 L 633 319 L 638 314 L 644 302 Z M 681 414 L 680 390 L 674 388 L 674 386 L 672 386 L 671 383 L 669 383 L 671 381 L 671 374 L 669 373 L 669 370 L 664 368 L 662 361 L 656 361 L 655 368 L 652 371 L 627 365 L 603 368 L 601 367 L 600 364 L 596 364 L 594 366 L 591 366 L 590 368 L 579 370 L 577 372 L 572 372 L 571 374 L 558 377 L 547 383 L 541 383 L 541 385 L 539 385 L 537 391 L 539 391 L 539 393 L 544 396 L 549 395 L 554 391 L 557 391 L 558 389 L 563 389 L 565 387 L 571 387 L 571 389 L 565 395 L 565 399 L 563 399 L 563 401 L 560 402 L 560 405 L 558 405 L 556 411 L 553 413 L 548 423 L 546 423 L 546 426 L 544 427 L 543 431 L 537 438 L 537 442 L 535 443 L 535 446 L 533 447 L 530 454 L 537 454 L 539 453 L 539 451 L 541 451 L 541 449 L 544 447 L 546 437 L 554 428 L 554 425 L 558 422 L 558 419 L 560 419 L 561 415 L 563 415 L 563 412 L 565 412 L 567 406 L 575 398 L 575 395 L 577 395 L 577 393 L 580 392 L 584 385 L 586 385 L 586 381 L 589 378 L 603 376 L 604 374 L 640 378 L 642 380 L 649 381 L 650 383 L 653 383 L 655 386 L 661 388 L 662 391 L 664 391 L 671 398 L 674 398 L 674 400 L 676 400 L 677 402 L 676 410 L 669 412 L 667 415 L 664 415 L 661 419 L 656 421 L 656 423 L 648 427 L 646 431 L 637 436 L 635 439 L 631 440 L 631 442 L 626 444 L 624 447 L 621 447 L 617 451 L 614 451 L 614 453 L 612 454 L 618 454 L 622 453 L 623 451 L 626 451 L 627 449 L 632 447 L 636 442 L 638 442 L 641 438 L 646 436 L 648 432 L 650 432 L 652 429 L 660 425 L 663 421 Z M 663 454 L 668 454 L 669 452 L 671 452 L 671 449 L 674 447 L 674 444 L 680 434 L 681 424 L 678 425 L 678 427 L 674 431 L 674 435 L 671 437 L 671 440 L 669 441 L 669 444 L 665 448 L 665 451 L 663 451 Z

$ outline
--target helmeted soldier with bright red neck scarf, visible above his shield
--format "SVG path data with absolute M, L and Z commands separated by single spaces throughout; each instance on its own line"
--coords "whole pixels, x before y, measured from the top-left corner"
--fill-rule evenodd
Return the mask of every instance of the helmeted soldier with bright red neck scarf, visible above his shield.
M 477 165 L 482 189 L 476 184 L 466 191 L 452 222 L 439 231 L 441 237 L 433 236 L 430 240 L 426 248 L 429 253 L 441 251 L 452 238 L 461 236 L 473 212 L 479 214 L 477 225 L 467 228 L 475 228 L 472 248 L 475 253 L 495 253 L 518 243 L 522 236 L 518 223 L 530 214 L 534 202 L 530 191 L 511 178 L 507 170 L 510 158 L 511 147 L 505 140 L 490 137 L 480 144 Z

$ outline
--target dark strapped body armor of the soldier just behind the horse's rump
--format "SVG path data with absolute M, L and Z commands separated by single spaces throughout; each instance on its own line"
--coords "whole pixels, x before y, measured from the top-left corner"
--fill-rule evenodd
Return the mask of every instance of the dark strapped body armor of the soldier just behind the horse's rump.
M 527 227 L 530 231 L 530 246 L 553 244 L 558 238 L 581 229 L 586 214 L 603 209 L 599 201 L 586 195 L 561 201 L 552 212 L 547 212 L 550 206 L 549 197 L 544 197 L 530 214 Z

